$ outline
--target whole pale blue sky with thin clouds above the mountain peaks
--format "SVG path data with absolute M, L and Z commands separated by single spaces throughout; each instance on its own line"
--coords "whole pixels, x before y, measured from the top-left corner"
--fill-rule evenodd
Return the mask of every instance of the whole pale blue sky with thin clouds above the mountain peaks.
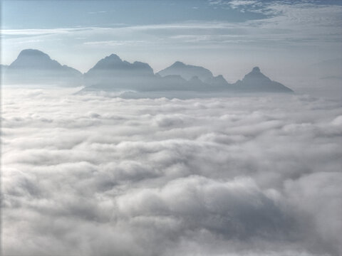
M 314 63 L 342 58 L 341 4 L 1 1 L 1 63 L 36 48 L 86 72 L 116 53 L 147 62 L 155 72 L 181 60 L 234 81 L 259 65 L 282 82 L 294 82 L 290 77 L 299 82 Z

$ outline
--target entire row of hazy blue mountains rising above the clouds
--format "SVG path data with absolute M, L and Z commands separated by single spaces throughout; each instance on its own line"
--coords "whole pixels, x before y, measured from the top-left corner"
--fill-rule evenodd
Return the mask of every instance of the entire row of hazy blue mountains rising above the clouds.
M 1 65 L 4 84 L 38 83 L 46 85 L 85 85 L 82 92 L 293 92 L 289 87 L 262 74 L 258 67 L 242 80 L 230 84 L 222 75 L 214 77 L 207 68 L 176 61 L 170 67 L 154 73 L 150 65 L 129 63 L 111 54 L 101 59 L 88 72 L 61 65 L 40 50 L 26 49 L 11 65 Z

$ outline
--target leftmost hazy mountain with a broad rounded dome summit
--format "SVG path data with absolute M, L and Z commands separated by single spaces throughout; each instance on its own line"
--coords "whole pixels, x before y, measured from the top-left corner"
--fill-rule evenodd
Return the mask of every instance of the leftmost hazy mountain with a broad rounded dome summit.
M 4 84 L 44 84 L 79 86 L 81 72 L 52 60 L 40 50 L 26 49 L 4 69 Z

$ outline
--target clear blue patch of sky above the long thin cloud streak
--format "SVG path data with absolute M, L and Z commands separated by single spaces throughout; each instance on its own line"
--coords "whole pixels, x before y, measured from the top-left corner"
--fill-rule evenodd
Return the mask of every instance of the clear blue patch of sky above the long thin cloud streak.
M 4 1 L 4 28 L 59 28 L 146 25 L 196 21 L 247 21 L 262 13 L 242 14 L 208 1 Z

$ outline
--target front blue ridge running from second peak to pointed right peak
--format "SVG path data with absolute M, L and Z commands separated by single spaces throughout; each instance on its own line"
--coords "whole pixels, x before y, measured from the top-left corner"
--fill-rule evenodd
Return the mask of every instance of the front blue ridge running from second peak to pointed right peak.
M 195 67 L 179 62 L 175 64 L 177 64 L 177 68 Z M 206 70 L 201 67 L 195 67 L 195 70 L 198 70 L 197 68 Z M 128 63 L 121 60 L 118 55 L 112 54 L 100 60 L 85 74 L 87 87 L 81 90 L 81 93 L 107 91 L 125 92 L 125 97 L 148 97 L 149 93 L 158 97 L 171 97 L 170 95 L 188 97 L 190 92 L 194 92 L 196 97 L 205 97 L 205 95 L 214 97 L 237 92 L 292 92 L 281 83 L 267 78 L 259 68 L 253 68 L 252 72 L 245 75 L 243 80 L 239 80 L 233 85 L 229 84 L 222 75 L 214 77 L 209 70 L 207 71 L 209 75 L 202 76 L 202 80 L 193 73 L 190 78 L 189 72 L 185 72 L 188 75 L 186 78 L 189 78 L 186 79 L 181 75 L 184 75 L 181 71 L 178 72 L 179 74 L 157 73 L 153 75 L 150 65 L 140 62 Z

